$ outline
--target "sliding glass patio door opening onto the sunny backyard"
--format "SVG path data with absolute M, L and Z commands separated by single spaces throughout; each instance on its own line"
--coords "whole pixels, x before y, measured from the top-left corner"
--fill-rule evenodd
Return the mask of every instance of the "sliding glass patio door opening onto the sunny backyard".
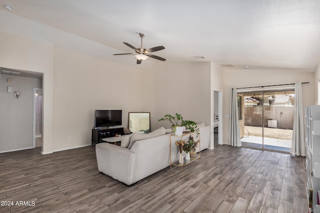
M 294 90 L 238 92 L 238 97 L 242 146 L 289 153 Z

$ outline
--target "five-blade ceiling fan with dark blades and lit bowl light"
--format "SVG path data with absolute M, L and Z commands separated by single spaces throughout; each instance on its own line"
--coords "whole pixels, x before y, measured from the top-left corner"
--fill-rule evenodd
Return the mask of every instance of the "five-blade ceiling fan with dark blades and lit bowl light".
M 149 52 L 155 52 L 155 51 L 159 51 L 161 49 L 164 49 L 164 46 L 155 46 L 155 47 L 152 47 L 149 49 L 145 49 L 142 47 L 142 38 L 144 37 L 144 34 L 139 33 L 139 35 L 141 37 L 141 47 L 140 48 L 136 48 L 129 43 L 123 42 L 128 47 L 134 49 L 135 53 L 119 53 L 119 54 L 113 54 L 113 55 L 134 55 L 136 58 L 136 64 L 140 64 L 143 60 L 146 60 L 148 57 L 154 58 L 154 59 L 157 59 L 160 61 L 166 60 L 165 58 L 161 58 L 159 56 L 149 54 Z

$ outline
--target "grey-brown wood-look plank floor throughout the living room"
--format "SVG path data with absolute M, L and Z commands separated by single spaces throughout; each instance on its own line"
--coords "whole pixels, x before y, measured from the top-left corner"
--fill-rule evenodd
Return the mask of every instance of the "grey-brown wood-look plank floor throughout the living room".
M 2 153 L 0 213 L 307 213 L 304 162 L 218 145 L 182 173 L 168 167 L 128 188 L 98 172 L 94 146 Z

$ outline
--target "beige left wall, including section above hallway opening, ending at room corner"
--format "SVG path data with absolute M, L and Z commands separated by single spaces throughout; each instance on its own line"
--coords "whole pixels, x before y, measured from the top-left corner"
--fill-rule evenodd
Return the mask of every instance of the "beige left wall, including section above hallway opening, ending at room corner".
M 94 109 L 122 109 L 124 127 L 129 111 L 141 111 L 139 69 L 6 32 L 0 31 L 0 37 L 1 67 L 43 73 L 43 87 L 35 86 L 43 88 L 42 153 L 90 144 Z M 4 106 L 2 99 L 0 106 Z M 7 110 L 11 113 L 11 108 Z M 10 132 L 10 128 L 5 126 L 1 131 Z M 6 138 L 1 134 L 0 143 Z M 11 139 L 20 140 L 14 135 Z M 25 145 L 12 146 L 19 148 Z

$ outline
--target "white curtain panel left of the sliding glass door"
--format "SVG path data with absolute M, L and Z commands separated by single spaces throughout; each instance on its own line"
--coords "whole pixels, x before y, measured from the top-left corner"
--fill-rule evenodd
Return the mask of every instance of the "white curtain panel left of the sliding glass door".
M 231 89 L 229 145 L 232 147 L 241 146 L 236 88 Z

